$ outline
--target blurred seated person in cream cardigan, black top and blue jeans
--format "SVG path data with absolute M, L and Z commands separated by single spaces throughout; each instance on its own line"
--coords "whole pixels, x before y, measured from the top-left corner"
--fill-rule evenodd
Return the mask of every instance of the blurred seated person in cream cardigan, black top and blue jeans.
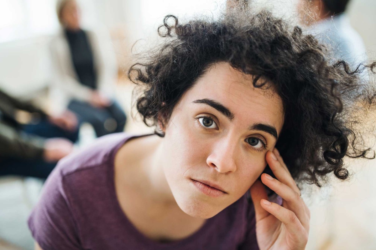
M 126 114 L 114 99 L 117 65 L 108 35 L 81 28 L 75 0 L 58 1 L 56 10 L 62 29 L 51 43 L 55 112 L 68 108 L 97 136 L 122 132 Z

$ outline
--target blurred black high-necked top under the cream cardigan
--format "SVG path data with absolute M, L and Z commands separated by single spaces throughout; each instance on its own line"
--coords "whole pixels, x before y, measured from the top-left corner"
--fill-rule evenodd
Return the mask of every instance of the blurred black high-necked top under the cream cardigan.
M 97 74 L 88 36 L 83 30 L 65 30 L 74 69 L 81 84 L 96 89 Z

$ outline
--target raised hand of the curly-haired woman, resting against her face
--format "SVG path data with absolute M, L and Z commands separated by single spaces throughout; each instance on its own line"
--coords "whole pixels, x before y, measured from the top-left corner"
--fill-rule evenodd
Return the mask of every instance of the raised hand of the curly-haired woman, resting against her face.
M 262 174 L 261 180 L 282 199 L 282 206 L 268 201 L 265 187 L 257 180 L 250 189 L 255 205 L 256 237 L 260 250 L 301 250 L 308 241 L 310 214 L 300 197 L 277 149 L 268 152 L 266 160 L 277 179 Z

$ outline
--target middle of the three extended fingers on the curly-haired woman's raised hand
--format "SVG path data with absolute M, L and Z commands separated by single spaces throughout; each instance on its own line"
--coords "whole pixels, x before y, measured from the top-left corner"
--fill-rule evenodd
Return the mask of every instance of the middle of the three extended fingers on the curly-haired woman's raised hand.
M 271 190 L 276 192 L 285 202 L 287 207 L 296 214 L 297 218 L 302 223 L 303 227 L 309 228 L 309 215 L 306 213 L 304 201 L 300 198 L 300 193 L 295 192 L 289 186 L 274 179 L 268 174 L 261 175 L 262 182 Z

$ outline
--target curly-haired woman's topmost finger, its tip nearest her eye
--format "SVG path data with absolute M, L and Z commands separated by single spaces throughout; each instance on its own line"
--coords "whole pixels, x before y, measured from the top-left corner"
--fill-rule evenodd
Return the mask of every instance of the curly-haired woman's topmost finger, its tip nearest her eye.
M 279 156 L 279 158 L 281 158 Z M 281 158 L 282 159 L 282 158 Z M 290 172 L 288 171 L 287 167 L 285 167 L 285 163 L 280 160 L 278 160 L 276 154 L 273 152 L 267 152 L 266 154 L 266 160 L 268 162 L 268 165 L 273 171 L 273 174 L 275 177 L 282 183 L 286 184 L 287 186 L 291 187 L 295 192 L 299 193 L 300 195 L 300 190 L 299 187 L 296 185 L 293 177 L 291 177 Z

